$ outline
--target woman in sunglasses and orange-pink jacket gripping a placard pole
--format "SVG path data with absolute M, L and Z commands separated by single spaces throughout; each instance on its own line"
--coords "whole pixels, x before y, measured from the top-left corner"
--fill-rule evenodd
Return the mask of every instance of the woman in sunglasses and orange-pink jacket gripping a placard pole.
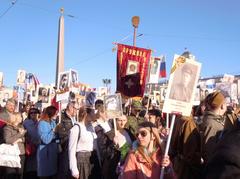
M 137 145 L 125 161 L 122 178 L 160 178 L 162 167 L 166 167 L 164 179 L 176 178 L 169 157 L 163 156 L 156 126 L 151 122 L 143 122 L 138 127 Z

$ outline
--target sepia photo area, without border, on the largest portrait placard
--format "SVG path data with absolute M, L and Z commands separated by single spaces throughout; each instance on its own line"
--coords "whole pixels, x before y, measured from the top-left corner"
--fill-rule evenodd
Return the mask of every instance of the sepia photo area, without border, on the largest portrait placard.
M 197 67 L 184 63 L 178 67 L 174 75 L 169 99 L 190 102 L 193 93 L 193 84 L 196 78 Z

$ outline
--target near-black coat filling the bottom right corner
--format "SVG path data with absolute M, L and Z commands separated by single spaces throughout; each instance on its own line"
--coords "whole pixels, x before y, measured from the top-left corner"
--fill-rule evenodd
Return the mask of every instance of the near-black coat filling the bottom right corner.
M 204 171 L 204 179 L 240 178 L 240 128 L 226 133 Z

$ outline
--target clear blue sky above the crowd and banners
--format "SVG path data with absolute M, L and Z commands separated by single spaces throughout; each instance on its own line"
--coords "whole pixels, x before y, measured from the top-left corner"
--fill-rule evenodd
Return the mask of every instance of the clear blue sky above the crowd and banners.
M 202 63 L 201 76 L 240 74 L 238 0 L 10 0 L 0 1 L 0 71 L 4 84 L 16 83 L 18 69 L 55 80 L 59 9 L 65 9 L 65 69 L 80 82 L 116 86 L 113 42 L 132 45 L 131 18 L 140 16 L 137 46 L 166 55 L 169 74 L 174 54 L 188 48 Z M 69 17 L 67 14 L 74 16 Z M 121 41 L 121 39 L 125 40 Z

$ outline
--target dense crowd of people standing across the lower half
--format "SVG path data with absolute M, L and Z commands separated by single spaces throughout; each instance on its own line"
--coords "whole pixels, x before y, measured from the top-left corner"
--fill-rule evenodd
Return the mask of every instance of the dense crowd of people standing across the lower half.
M 157 179 L 162 167 L 165 179 L 240 177 L 240 109 L 218 91 L 193 106 L 190 117 L 176 115 L 169 155 L 166 114 L 146 96 L 123 104 L 116 119 L 108 119 L 101 99 L 70 100 L 61 110 L 16 107 L 8 99 L 0 111 L 0 148 L 18 146 L 20 158 L 20 167 L 0 162 L 3 179 Z M 4 155 L 0 150 L 9 160 Z

